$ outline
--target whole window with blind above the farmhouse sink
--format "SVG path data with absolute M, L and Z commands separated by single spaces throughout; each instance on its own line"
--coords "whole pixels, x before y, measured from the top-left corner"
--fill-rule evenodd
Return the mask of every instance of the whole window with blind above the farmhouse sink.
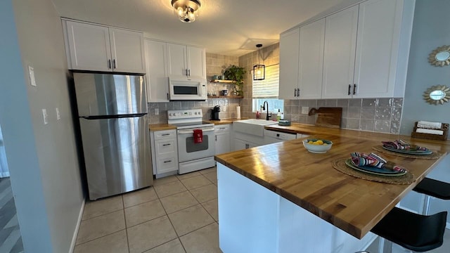
M 279 69 L 280 65 L 278 64 L 266 66 L 266 79 L 253 80 L 253 112 L 261 110 L 261 105 L 264 101 L 269 103 L 269 110 L 271 112 L 278 112 L 278 109 L 283 111 L 284 101 L 278 99 Z

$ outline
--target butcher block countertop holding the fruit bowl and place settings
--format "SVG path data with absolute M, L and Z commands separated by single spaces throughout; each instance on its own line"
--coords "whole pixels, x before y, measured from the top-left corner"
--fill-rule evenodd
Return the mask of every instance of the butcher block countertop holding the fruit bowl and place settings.
M 296 139 L 217 155 L 215 160 L 356 238 L 371 231 L 450 151 L 450 141 L 302 124 L 266 126 L 272 128 L 327 139 L 333 141 L 333 147 L 328 153 L 309 153 L 302 139 Z M 349 158 L 351 152 L 376 152 L 372 147 L 380 141 L 398 138 L 442 153 L 437 160 L 379 153 L 413 173 L 416 181 L 409 185 L 357 179 L 332 166 L 333 160 Z

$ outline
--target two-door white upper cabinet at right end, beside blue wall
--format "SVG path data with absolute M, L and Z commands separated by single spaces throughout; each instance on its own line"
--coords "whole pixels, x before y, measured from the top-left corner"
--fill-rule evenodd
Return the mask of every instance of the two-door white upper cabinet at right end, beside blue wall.
M 370 0 L 326 18 L 323 98 L 403 96 L 412 5 Z

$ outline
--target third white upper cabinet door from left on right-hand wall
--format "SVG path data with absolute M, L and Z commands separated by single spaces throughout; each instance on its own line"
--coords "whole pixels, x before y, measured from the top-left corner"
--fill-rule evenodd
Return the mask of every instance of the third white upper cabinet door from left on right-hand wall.
M 358 6 L 326 17 L 322 98 L 352 96 L 357 27 Z

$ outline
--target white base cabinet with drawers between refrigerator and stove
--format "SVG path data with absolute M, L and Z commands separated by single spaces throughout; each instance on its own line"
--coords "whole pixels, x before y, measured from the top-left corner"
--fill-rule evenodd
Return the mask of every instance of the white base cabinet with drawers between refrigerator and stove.
M 150 131 L 153 174 L 156 178 L 178 173 L 176 130 Z

